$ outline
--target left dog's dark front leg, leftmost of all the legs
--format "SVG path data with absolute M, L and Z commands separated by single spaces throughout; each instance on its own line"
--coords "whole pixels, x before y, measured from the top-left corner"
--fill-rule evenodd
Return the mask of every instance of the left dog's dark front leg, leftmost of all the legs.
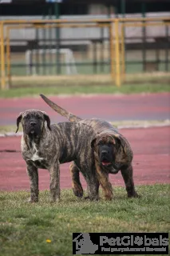
M 30 200 L 29 202 L 38 202 L 38 168 L 32 164 L 27 164 L 27 174 L 30 178 Z

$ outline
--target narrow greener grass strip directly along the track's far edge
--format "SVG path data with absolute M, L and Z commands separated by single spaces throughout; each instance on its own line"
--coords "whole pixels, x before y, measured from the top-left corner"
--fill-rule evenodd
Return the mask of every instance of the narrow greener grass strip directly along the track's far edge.
M 110 84 L 105 86 L 69 86 L 69 85 L 56 85 L 56 86 L 30 86 L 22 88 L 12 88 L 10 90 L 0 90 L 0 98 L 19 98 L 26 96 L 38 96 L 39 94 L 138 94 L 138 93 L 157 93 L 170 91 L 168 83 L 155 84 L 125 84 L 118 88 Z

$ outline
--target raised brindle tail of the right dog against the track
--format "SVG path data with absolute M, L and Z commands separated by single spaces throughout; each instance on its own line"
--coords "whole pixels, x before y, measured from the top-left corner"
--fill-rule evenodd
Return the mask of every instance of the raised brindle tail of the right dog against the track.
M 49 98 L 46 98 L 45 95 L 40 94 L 42 99 L 58 114 L 61 114 L 63 117 L 67 118 L 70 122 L 78 122 L 81 121 L 81 118 L 78 118 L 76 115 L 69 113 L 67 110 L 64 110 L 61 108 L 61 106 L 58 106 L 56 103 L 50 101 Z

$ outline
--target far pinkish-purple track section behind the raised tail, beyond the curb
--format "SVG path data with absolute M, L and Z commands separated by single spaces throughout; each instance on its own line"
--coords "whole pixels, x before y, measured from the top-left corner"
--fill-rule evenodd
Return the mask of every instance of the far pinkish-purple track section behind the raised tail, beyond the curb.
M 52 96 L 49 98 L 81 118 L 101 118 L 106 121 L 170 119 L 170 93 Z M 0 98 L 0 125 L 16 124 L 18 114 L 29 109 L 46 111 L 52 123 L 66 120 L 47 106 L 40 96 Z

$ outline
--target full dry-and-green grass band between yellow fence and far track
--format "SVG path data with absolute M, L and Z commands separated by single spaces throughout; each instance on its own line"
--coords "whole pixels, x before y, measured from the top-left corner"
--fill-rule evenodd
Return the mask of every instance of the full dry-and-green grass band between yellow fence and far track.
M 19 98 L 42 94 L 137 94 L 170 91 L 170 73 L 127 74 L 115 86 L 109 74 L 43 75 L 12 77 L 10 90 L 0 90 L 0 98 Z M 6 84 L 8 83 L 6 79 Z

